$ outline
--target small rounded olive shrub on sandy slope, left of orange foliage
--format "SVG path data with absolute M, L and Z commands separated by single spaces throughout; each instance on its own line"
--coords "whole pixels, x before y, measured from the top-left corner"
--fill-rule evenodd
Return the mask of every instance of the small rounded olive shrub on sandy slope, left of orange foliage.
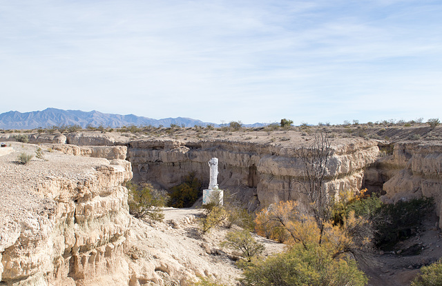
M 241 252 L 242 257 L 246 258 L 249 262 L 251 258 L 261 254 L 265 249 L 264 245 L 258 243 L 247 229 L 228 232 L 226 234 L 226 241 L 223 241 L 221 246 Z

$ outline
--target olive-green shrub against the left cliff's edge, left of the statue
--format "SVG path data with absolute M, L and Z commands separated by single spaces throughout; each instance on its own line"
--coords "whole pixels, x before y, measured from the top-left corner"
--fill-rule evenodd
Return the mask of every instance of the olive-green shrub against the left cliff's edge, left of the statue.
M 164 192 L 155 190 L 151 184 L 136 185 L 130 181 L 126 183 L 129 191 L 128 205 L 129 213 L 135 218 L 150 218 L 153 221 L 162 221 L 164 214 L 161 207 L 167 201 Z

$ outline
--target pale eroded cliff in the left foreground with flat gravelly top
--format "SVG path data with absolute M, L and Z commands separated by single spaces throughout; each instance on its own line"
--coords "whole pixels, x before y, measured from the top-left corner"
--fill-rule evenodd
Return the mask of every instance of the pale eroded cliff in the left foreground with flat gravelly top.
M 37 147 L 23 146 L 15 149 Z M 0 284 L 127 285 L 123 184 L 131 164 L 45 155 L 48 161 L 28 165 L 13 163 L 14 154 L 1 157 Z

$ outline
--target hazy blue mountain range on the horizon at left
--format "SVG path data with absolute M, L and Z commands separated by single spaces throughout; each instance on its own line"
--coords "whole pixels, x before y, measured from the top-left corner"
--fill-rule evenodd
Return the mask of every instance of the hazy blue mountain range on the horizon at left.
M 61 125 L 80 125 L 86 127 L 92 125 L 98 127 L 121 127 L 128 125 L 152 125 L 158 127 L 163 125 L 169 127 L 171 124 L 193 127 L 195 125 L 206 126 L 208 124 L 200 120 L 190 118 L 166 118 L 151 119 L 148 117 L 135 116 L 134 114 L 106 114 L 97 112 L 84 112 L 81 110 L 59 110 L 56 108 L 46 108 L 42 111 L 17 112 L 10 111 L 0 114 L 0 129 L 35 129 L 37 127 L 52 127 Z M 218 126 L 218 124 L 213 124 Z

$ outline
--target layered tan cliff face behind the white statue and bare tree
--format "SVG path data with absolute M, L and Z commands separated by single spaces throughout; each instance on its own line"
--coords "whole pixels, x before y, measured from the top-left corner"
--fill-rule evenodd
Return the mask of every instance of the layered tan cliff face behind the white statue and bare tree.
M 128 143 L 127 159 L 133 165 L 136 181 L 151 181 L 169 189 L 191 172 L 207 185 L 207 162 L 217 157 L 220 187 L 237 191 L 256 207 L 298 197 L 300 183 L 305 180 L 304 166 L 296 155 L 300 145 L 137 140 Z M 336 192 L 360 190 L 363 168 L 377 159 L 377 142 L 337 139 L 332 147 L 325 187 Z

